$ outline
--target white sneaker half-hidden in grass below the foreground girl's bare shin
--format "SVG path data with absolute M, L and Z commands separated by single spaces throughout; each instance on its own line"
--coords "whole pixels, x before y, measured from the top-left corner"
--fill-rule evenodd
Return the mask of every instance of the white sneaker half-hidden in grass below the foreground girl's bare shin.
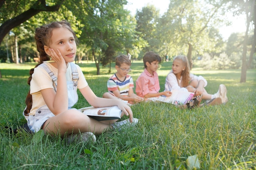
M 82 132 L 67 136 L 67 144 L 73 142 L 96 142 L 96 136 L 92 132 Z

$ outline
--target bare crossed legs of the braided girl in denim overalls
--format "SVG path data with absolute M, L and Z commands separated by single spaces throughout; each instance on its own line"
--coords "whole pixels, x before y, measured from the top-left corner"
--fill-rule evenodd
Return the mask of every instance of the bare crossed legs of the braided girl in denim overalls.
M 101 123 L 74 109 L 66 110 L 59 115 L 49 118 L 43 126 L 45 133 L 60 134 L 61 137 L 65 134 L 69 135 L 79 132 L 101 134 L 103 130 L 109 128 L 109 124 Z

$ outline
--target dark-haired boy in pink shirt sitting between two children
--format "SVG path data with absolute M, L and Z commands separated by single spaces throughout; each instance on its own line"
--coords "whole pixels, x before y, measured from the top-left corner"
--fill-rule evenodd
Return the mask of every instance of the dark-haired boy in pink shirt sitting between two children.
M 159 97 L 160 95 L 171 96 L 171 91 L 159 93 L 160 85 L 156 70 L 161 62 L 161 57 L 150 51 L 144 55 L 143 62 L 145 69 L 136 80 L 136 94 L 144 98 Z

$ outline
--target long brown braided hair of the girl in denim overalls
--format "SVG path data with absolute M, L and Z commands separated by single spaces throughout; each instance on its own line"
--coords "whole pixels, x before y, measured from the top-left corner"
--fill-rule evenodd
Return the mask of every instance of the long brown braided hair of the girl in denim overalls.
M 50 24 L 46 24 L 46 25 L 36 28 L 35 40 L 36 40 L 37 51 L 40 54 L 40 57 L 39 57 L 40 61 L 38 64 L 36 64 L 35 68 L 37 66 L 39 66 L 40 64 L 42 64 L 44 61 L 50 60 L 50 57 L 45 53 L 44 46 L 49 46 L 51 37 L 52 37 L 52 30 L 58 29 L 61 27 L 64 27 L 64 28 L 68 29 L 69 31 L 71 31 L 74 35 L 76 42 L 77 42 L 76 34 L 72 30 L 70 23 L 67 22 L 66 20 L 62 20 L 60 22 L 58 22 L 58 21 L 52 22 Z M 30 82 L 31 82 L 33 73 L 34 73 L 34 68 L 31 68 L 29 71 L 30 77 L 28 78 L 28 81 L 27 81 L 27 84 L 29 84 L 29 86 L 30 86 Z M 27 108 L 24 110 L 24 115 L 28 116 L 29 112 L 31 110 L 32 104 L 33 104 L 32 95 L 30 94 L 30 90 L 27 94 L 25 103 L 27 105 Z

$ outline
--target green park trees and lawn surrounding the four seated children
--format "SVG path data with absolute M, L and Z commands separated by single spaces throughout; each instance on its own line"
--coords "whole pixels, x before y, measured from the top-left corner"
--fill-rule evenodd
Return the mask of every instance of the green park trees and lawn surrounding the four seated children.
M 0 2 L 0 169 L 189 169 L 198 155 L 201 169 L 255 169 L 256 70 L 255 1 L 170 0 L 167 11 L 153 5 L 126 9 L 125 0 L 21 0 Z M 13 10 L 15 9 L 15 10 Z M 245 31 L 223 38 L 226 13 L 246 15 Z M 72 24 L 79 46 L 76 63 L 98 96 L 115 73 L 114 59 L 132 55 L 134 80 L 143 71 L 144 53 L 162 57 L 161 90 L 175 55 L 186 55 L 191 72 L 204 76 L 207 91 L 225 84 L 229 102 L 180 110 L 164 103 L 132 106 L 136 128 L 106 132 L 96 144 L 66 145 L 59 137 L 13 134 L 25 123 L 29 69 L 38 58 L 35 28 L 54 20 Z M 233 32 L 230 30 L 230 32 Z M 168 61 L 165 61 L 168 55 Z M 243 82 L 243 83 L 241 83 Z M 89 106 L 81 98 L 76 108 Z

